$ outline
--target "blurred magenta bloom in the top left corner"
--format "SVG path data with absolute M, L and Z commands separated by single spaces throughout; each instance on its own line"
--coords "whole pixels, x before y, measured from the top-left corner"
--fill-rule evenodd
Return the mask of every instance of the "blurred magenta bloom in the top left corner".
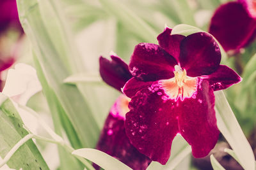
M 5 31 L 8 27 L 15 27 L 22 32 L 16 0 L 1 0 L 0 11 L 0 32 Z

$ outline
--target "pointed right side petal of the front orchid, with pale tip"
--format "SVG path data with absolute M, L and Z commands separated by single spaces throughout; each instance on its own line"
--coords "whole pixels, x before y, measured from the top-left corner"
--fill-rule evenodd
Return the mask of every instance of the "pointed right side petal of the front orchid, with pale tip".
M 206 76 L 205 80 L 209 81 L 212 89 L 216 91 L 227 89 L 239 83 L 242 78 L 234 70 L 230 69 L 230 67 L 220 65 L 214 73 Z

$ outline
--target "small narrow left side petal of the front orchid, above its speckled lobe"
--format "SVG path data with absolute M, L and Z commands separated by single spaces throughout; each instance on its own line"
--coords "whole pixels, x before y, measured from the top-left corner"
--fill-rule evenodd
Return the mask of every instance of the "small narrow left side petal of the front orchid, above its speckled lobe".
M 123 92 L 127 97 L 133 97 L 136 95 L 136 92 L 148 88 L 152 85 L 153 81 L 140 81 L 137 78 L 131 78 L 124 85 Z

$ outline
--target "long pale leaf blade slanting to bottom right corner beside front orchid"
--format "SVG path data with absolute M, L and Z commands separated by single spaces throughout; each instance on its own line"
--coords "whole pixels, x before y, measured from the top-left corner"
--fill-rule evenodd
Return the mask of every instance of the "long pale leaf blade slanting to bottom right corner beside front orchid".
M 236 153 L 241 166 L 244 169 L 255 169 L 255 157 L 252 148 L 244 136 L 223 91 L 216 91 L 214 94 L 216 119 L 220 132 L 227 139 L 234 153 Z

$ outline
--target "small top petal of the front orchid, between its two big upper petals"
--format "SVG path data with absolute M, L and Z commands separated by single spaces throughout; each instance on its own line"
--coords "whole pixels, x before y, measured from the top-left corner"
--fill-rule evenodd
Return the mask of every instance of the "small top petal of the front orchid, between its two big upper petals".
M 166 27 L 164 32 L 157 36 L 159 46 L 161 46 L 166 52 L 170 53 L 176 60 L 179 60 L 180 55 L 180 41 L 185 38 L 182 35 L 172 35 L 172 29 Z

